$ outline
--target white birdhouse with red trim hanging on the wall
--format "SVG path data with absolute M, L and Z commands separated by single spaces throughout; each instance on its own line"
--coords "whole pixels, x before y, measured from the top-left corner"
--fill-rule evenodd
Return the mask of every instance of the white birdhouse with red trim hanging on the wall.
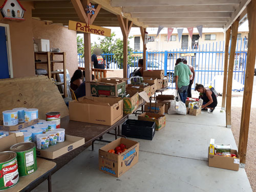
M 4 19 L 25 20 L 23 17 L 26 9 L 18 0 L 6 0 L 0 10 Z

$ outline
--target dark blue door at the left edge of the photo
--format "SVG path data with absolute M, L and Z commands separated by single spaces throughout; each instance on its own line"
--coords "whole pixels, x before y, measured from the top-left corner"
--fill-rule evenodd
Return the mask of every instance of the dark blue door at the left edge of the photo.
M 0 79 L 10 78 L 5 27 L 0 27 Z

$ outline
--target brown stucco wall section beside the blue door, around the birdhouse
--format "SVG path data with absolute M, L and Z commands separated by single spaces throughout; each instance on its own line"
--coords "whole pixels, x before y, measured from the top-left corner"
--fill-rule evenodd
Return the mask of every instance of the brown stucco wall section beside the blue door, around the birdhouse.
M 4 1 L 0 0 L 0 5 L 3 5 Z M 0 23 L 8 24 L 10 27 L 13 77 L 35 75 L 31 18 L 33 4 L 22 2 L 22 5 L 27 10 L 22 22 L 2 20 L 3 17 L 0 15 Z

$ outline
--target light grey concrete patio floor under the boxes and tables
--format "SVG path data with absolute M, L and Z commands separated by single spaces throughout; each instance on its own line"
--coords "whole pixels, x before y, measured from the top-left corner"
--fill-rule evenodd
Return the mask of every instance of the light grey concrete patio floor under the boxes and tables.
M 166 120 L 152 141 L 133 139 L 140 142 L 139 162 L 120 178 L 98 170 L 98 148 L 104 143 L 97 143 L 95 151 L 88 148 L 52 176 L 53 191 L 252 191 L 244 168 L 236 172 L 208 166 L 210 138 L 237 149 L 220 108 L 197 117 L 166 115 Z M 33 191 L 47 191 L 47 182 Z

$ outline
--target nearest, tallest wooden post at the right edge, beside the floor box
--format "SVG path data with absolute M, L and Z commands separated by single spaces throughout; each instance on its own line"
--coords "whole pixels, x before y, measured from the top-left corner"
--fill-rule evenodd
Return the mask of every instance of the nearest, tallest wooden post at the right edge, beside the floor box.
M 251 96 L 254 77 L 254 63 L 256 55 L 256 0 L 252 0 L 246 7 L 249 23 L 249 35 L 248 35 L 248 54 L 245 71 L 245 83 L 244 83 L 244 97 L 243 107 L 240 125 L 240 137 L 238 153 L 240 156 L 240 163 L 245 164 L 246 150 L 248 141 L 250 111 L 251 111 Z

